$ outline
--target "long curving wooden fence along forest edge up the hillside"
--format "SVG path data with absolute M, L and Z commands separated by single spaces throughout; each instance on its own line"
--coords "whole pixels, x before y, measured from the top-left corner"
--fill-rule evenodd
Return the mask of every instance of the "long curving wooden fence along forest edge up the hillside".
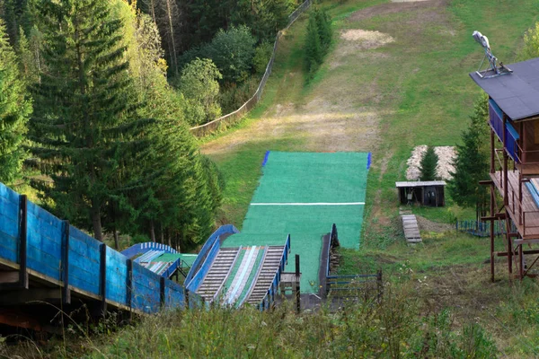
M 291 13 L 288 15 L 288 23 L 287 27 L 285 29 L 278 31 L 277 36 L 275 38 L 275 43 L 273 44 L 273 52 L 271 53 L 270 61 L 268 62 L 268 66 L 266 66 L 266 71 L 264 72 L 264 75 L 262 76 L 261 83 L 259 83 L 258 88 L 256 89 L 256 92 L 252 95 L 251 99 L 247 100 L 243 105 L 236 109 L 234 112 L 231 112 L 225 116 L 222 116 L 220 118 L 216 118 L 213 121 L 210 121 L 208 123 L 205 123 L 200 126 L 191 127 L 190 132 L 197 136 L 202 137 L 206 136 L 214 131 L 216 131 L 218 128 L 225 124 L 232 124 L 236 120 L 243 118 L 251 109 L 254 108 L 254 106 L 258 103 L 258 101 L 261 100 L 262 92 L 264 91 L 264 87 L 266 86 L 266 82 L 268 81 L 268 78 L 270 77 L 271 70 L 273 69 L 273 63 L 275 61 L 275 54 L 277 53 L 278 48 L 278 40 L 282 37 L 283 31 L 286 31 L 294 22 L 296 22 L 296 19 L 305 12 L 305 10 L 311 5 L 311 0 L 306 0 L 303 4 L 299 5 L 294 13 Z

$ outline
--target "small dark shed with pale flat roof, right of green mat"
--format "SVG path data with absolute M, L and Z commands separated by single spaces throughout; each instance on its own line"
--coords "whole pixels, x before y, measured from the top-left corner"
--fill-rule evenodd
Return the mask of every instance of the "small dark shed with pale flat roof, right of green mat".
M 402 205 L 419 203 L 422 206 L 446 206 L 444 180 L 395 182 L 395 185 Z

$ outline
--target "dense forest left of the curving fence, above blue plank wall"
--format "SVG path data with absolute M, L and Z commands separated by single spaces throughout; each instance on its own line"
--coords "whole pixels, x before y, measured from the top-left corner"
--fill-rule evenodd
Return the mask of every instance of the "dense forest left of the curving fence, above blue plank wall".
M 4 0 L 0 181 L 103 241 L 181 250 L 223 176 L 189 127 L 252 95 L 293 0 Z

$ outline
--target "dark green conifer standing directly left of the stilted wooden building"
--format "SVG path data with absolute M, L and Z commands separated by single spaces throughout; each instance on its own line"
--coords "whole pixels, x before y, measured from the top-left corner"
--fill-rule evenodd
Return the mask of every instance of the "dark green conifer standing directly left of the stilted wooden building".
M 487 188 L 479 184 L 489 179 L 489 125 L 487 97 L 475 102 L 472 122 L 462 135 L 463 144 L 456 146 L 455 173 L 447 189 L 459 206 L 482 205 L 487 198 Z

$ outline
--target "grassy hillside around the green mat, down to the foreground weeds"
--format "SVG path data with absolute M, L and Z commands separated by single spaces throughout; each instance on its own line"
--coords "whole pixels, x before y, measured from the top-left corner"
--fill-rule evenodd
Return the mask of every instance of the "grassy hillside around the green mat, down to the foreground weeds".
M 508 282 L 505 258 L 489 281 L 486 239 L 457 234 L 446 209 L 422 209 L 423 243 L 403 244 L 394 181 L 419 144 L 453 145 L 479 89 L 468 73 L 482 58 L 473 30 L 504 63 L 517 61 L 522 35 L 537 21 L 535 0 L 323 2 L 335 42 L 305 85 L 305 19 L 278 49 L 261 104 L 203 151 L 227 180 L 221 221 L 240 226 L 274 151 L 365 151 L 369 172 L 362 248 L 341 250 L 340 273 L 384 270 L 380 304 L 350 304 L 296 316 L 246 309 L 174 311 L 118 328 L 73 328 L 59 349 L 0 346 L 0 355 L 138 357 L 483 357 L 539 356 L 537 281 Z M 503 248 L 497 240 L 497 249 Z M 70 344 L 71 343 L 71 344 Z

